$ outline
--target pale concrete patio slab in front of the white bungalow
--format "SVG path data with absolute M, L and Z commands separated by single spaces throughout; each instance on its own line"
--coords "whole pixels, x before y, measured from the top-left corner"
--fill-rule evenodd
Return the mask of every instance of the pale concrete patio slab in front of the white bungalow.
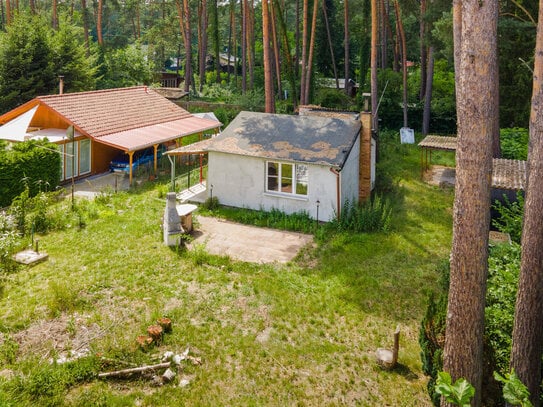
M 227 255 L 251 263 L 287 263 L 300 249 L 313 243 L 313 236 L 276 229 L 242 225 L 223 219 L 198 216 L 193 232 L 195 245 L 205 244 L 211 254 Z

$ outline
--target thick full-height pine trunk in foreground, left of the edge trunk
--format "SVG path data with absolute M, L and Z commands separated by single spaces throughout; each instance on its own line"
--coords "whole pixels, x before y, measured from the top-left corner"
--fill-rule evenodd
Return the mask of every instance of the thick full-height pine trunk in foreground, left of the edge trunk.
M 460 60 L 456 61 L 460 68 L 458 147 L 443 369 L 453 380 L 468 380 L 475 387 L 472 406 L 480 406 L 492 129 L 498 109 L 490 97 L 497 69 L 493 54 L 497 52 L 498 2 L 462 0 L 461 4 L 462 40 Z M 442 400 L 442 405 L 450 404 Z

